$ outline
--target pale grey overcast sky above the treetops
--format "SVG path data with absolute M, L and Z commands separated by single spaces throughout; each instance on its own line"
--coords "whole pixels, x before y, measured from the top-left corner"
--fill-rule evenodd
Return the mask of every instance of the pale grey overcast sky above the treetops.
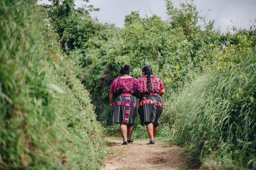
M 172 2 L 179 7 L 180 0 Z M 215 20 L 215 28 L 220 28 L 222 32 L 233 26 L 246 29 L 253 24 L 256 26 L 256 0 L 194 0 L 193 3 L 199 14 L 207 17 L 207 20 Z M 76 7 L 90 4 L 100 8 L 100 11 L 92 13 L 93 17 L 101 23 L 114 23 L 117 27 L 124 26 L 125 16 L 131 11 L 139 11 L 143 18 L 155 14 L 162 20 L 167 19 L 165 0 L 90 0 L 89 3 L 75 0 L 75 4 Z

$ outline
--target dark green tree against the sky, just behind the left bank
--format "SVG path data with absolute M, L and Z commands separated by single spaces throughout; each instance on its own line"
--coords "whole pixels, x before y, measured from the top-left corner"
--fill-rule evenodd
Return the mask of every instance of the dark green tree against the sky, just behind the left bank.
M 44 5 L 50 22 L 60 36 L 64 51 L 81 48 L 84 42 L 102 29 L 102 25 L 90 17 L 90 11 L 99 11 L 93 5 L 75 8 L 74 0 L 50 0 Z M 89 2 L 89 0 L 85 0 Z

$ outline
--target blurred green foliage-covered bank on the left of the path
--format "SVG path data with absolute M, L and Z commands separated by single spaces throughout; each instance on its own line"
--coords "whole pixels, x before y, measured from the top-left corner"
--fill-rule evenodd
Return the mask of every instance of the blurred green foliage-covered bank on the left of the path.
M 102 127 L 34 1 L 1 1 L 0 169 L 99 169 Z

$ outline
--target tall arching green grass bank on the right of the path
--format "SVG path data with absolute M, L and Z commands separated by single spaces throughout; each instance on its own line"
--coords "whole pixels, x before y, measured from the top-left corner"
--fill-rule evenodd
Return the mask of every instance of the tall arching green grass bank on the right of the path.
M 175 118 L 172 135 L 201 156 L 204 167 L 256 168 L 255 37 L 238 37 L 216 54 L 204 74 L 192 74 L 177 98 L 169 98 Z M 173 119 L 168 119 L 172 121 Z

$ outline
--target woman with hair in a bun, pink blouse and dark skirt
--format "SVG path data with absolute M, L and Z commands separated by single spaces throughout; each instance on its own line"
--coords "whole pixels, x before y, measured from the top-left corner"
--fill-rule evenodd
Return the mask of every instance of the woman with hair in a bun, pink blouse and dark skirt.
M 120 77 L 114 79 L 109 89 L 109 101 L 112 110 L 111 123 L 119 123 L 123 138 L 122 144 L 133 142 L 131 134 L 134 130 L 134 119 L 137 113 L 138 101 L 134 96 L 135 91 L 142 92 L 138 79 L 130 76 L 130 65 L 125 65 L 120 70 Z M 113 102 L 116 94 L 115 102 Z

